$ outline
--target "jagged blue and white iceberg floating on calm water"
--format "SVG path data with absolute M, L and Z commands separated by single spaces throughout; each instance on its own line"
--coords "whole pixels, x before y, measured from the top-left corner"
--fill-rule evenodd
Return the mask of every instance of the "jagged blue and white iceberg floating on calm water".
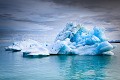
M 78 55 L 114 55 L 114 47 L 108 42 L 104 30 L 94 27 L 87 30 L 80 25 L 69 23 L 61 31 L 53 44 L 26 40 L 15 42 L 6 50 L 22 51 L 27 55 L 78 54 Z

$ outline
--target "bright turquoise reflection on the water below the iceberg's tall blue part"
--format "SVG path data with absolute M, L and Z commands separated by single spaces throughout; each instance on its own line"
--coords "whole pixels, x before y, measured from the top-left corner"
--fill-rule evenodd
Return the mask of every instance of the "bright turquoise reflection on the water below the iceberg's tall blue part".
M 105 79 L 111 60 L 108 56 L 56 56 L 54 63 L 60 67 L 60 75 L 66 80 Z M 54 58 L 54 57 L 53 57 Z M 59 64 L 60 63 L 60 64 Z

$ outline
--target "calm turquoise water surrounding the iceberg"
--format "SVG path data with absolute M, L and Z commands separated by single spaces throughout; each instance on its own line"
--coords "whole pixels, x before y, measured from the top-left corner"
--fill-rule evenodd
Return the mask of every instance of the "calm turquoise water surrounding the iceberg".
M 0 80 L 120 79 L 120 44 L 113 44 L 118 46 L 113 51 L 114 56 L 54 55 L 28 58 L 23 57 L 21 52 L 4 50 L 14 40 L 31 37 L 34 39 L 38 34 L 31 33 L 32 36 L 29 36 L 30 32 L 7 31 L 4 36 L 0 36 Z

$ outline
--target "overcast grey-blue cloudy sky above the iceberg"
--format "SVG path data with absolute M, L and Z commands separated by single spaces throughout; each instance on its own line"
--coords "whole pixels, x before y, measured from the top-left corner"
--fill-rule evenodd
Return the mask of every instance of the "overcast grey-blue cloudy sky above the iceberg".
M 120 39 L 119 0 L 0 0 L 0 29 L 43 30 L 56 35 L 66 23 L 105 27 Z

